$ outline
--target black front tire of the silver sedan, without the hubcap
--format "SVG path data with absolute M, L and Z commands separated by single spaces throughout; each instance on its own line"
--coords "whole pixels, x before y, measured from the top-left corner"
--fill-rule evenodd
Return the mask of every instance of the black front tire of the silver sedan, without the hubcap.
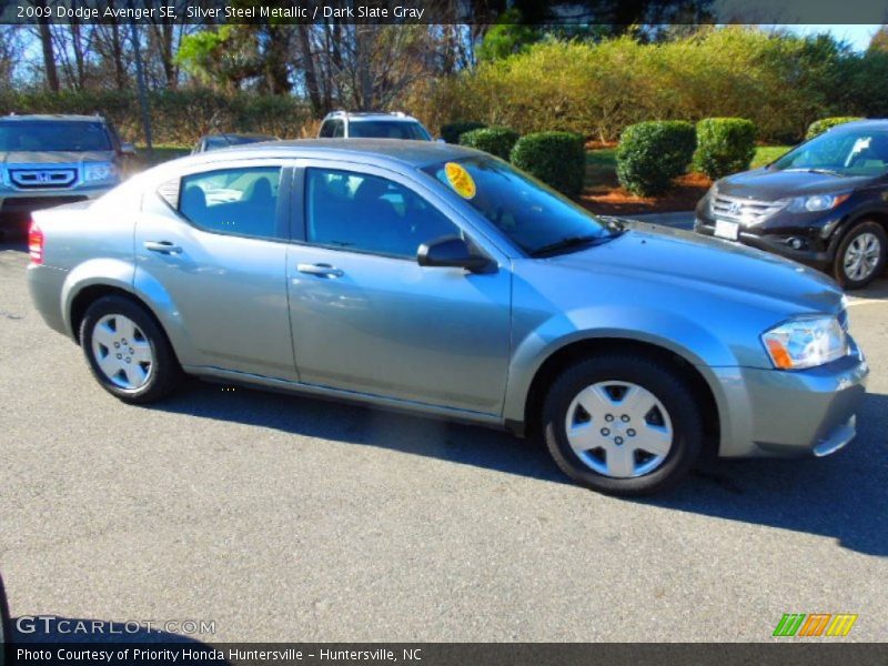
M 635 384 L 654 395 L 672 422 L 672 445 L 659 466 L 635 477 L 617 478 L 584 463 L 571 447 L 565 425 L 581 391 L 599 382 Z M 703 447 L 703 417 L 693 391 L 672 367 L 640 356 L 592 357 L 567 369 L 552 384 L 543 406 L 543 433 L 552 457 L 571 478 L 608 495 L 635 496 L 665 491 L 696 463 Z M 637 456 L 637 453 L 633 453 Z

